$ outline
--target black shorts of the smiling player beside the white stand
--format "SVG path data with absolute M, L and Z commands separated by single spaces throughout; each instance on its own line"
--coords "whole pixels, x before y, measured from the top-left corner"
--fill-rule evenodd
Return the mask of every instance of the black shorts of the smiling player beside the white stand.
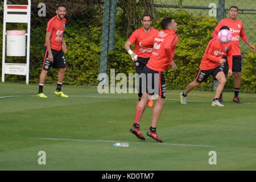
M 49 71 L 52 68 L 66 68 L 66 60 L 62 50 L 56 51 L 55 49 L 52 50 L 53 55 L 53 63 L 48 60 L 48 50 L 47 47 L 44 46 L 44 62 L 43 62 L 43 69 Z

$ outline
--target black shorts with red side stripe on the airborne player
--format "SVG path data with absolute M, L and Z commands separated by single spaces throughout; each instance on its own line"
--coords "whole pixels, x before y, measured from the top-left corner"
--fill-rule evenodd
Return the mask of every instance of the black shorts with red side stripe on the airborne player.
M 166 98 L 166 80 L 163 72 L 154 71 L 147 66 L 144 67 L 143 73 L 146 82 L 142 82 L 142 92 L 154 95 L 158 94 L 161 98 Z

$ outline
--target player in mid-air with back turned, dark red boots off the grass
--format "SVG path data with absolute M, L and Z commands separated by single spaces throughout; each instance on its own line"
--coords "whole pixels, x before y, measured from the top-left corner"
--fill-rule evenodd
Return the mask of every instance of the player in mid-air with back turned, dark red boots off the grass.
M 147 84 L 143 82 L 142 88 L 147 87 L 146 92 L 143 92 L 141 102 L 139 102 L 138 108 L 135 114 L 135 121 L 133 127 L 131 127 L 131 133 L 135 134 L 139 139 L 144 140 L 141 130 L 139 129 L 139 122 L 143 114 L 144 109 L 146 108 L 148 97 L 152 94 L 158 94 L 159 97 L 156 98 L 155 106 L 152 110 L 152 120 L 150 129 L 147 131 L 149 137 L 154 138 L 158 142 L 163 142 L 162 139 L 158 137 L 156 133 L 156 125 L 158 119 L 163 109 L 164 98 L 166 98 L 166 85 L 163 72 L 170 68 L 176 68 L 174 63 L 174 53 L 176 48 L 176 43 L 178 41 L 175 32 L 177 30 L 177 23 L 172 18 L 164 18 L 161 22 L 163 30 L 158 33 L 158 36 L 152 36 L 148 39 L 142 40 L 142 46 L 154 45 L 152 55 L 150 60 L 148 60 L 147 65 L 143 69 L 143 73 L 146 74 Z M 156 76 L 156 77 L 155 77 Z M 150 92 L 150 87 L 157 86 L 152 88 L 153 92 Z M 154 93 L 154 90 L 158 92 Z M 143 91 L 143 90 L 142 90 Z

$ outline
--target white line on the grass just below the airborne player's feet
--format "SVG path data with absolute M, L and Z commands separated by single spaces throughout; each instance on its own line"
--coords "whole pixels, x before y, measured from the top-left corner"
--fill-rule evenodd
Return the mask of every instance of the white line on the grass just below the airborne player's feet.
M 81 142 L 121 142 L 112 140 L 85 140 L 85 139 L 64 139 L 64 138 L 31 138 L 31 139 L 42 139 L 42 140 L 64 140 L 64 141 L 81 141 Z M 122 141 L 124 142 L 124 141 Z M 131 142 L 140 143 L 141 142 Z M 175 144 L 175 143 L 145 143 L 145 144 L 160 144 L 160 145 L 172 145 L 172 146 L 192 146 L 192 147 L 214 147 L 214 146 L 202 146 L 197 144 Z

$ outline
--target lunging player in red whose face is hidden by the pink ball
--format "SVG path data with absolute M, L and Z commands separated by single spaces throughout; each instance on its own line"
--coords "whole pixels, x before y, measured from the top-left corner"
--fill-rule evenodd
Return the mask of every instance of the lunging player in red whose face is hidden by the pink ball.
M 220 30 L 229 30 L 229 27 L 223 26 L 220 28 Z M 229 71 L 228 76 L 232 76 L 232 43 L 231 41 L 229 43 L 221 43 L 218 38 L 213 38 L 208 43 L 208 46 L 205 50 L 203 59 L 201 61 L 201 64 L 199 66 L 200 70 L 196 76 L 196 80 L 188 84 L 187 88 L 184 90 L 184 92 L 180 93 L 180 102 L 181 104 L 187 104 L 186 98 L 187 94 L 196 86 L 200 85 L 201 82 L 206 82 L 208 76 L 212 75 L 213 78 L 216 78 L 219 82 L 216 93 L 213 98 L 212 106 L 224 106 L 220 104 L 218 101 L 218 98 L 220 97 L 220 94 L 222 90 L 224 89 L 225 83 L 226 83 L 226 77 L 223 72 L 224 63 L 226 62 L 225 59 L 222 57 L 226 53 L 229 61 Z

